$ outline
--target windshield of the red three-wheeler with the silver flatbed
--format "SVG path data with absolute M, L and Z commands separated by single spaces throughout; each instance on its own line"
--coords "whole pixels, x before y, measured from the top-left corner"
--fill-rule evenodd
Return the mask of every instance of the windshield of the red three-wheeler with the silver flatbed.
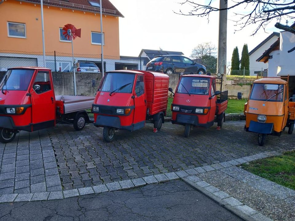
M 11 69 L 6 72 L 0 83 L 0 90 L 2 90 L 5 76 L 7 76 L 7 82 L 4 85 L 4 90 L 8 91 L 26 91 L 29 87 L 29 83 L 32 79 L 34 70 L 28 69 Z

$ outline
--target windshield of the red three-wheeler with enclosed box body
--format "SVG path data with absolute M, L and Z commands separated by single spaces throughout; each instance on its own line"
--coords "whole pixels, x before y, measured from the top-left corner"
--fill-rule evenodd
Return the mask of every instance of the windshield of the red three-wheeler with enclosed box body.
M 117 89 L 116 93 L 132 93 L 134 77 L 135 74 L 107 73 L 98 91 L 112 92 Z

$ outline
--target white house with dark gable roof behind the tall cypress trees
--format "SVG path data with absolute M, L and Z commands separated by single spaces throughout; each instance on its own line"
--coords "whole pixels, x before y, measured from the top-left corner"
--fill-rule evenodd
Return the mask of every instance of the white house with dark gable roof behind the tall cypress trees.
M 267 69 L 267 64 L 257 62 L 257 58 L 262 55 L 275 41 L 280 37 L 280 33 L 273 32 L 259 45 L 257 45 L 252 51 L 249 52 L 250 59 L 250 75 L 255 76 L 257 72 L 261 72 Z

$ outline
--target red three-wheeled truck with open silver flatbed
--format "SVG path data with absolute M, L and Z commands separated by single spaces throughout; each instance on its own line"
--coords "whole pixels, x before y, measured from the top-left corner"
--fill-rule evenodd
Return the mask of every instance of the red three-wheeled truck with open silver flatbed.
M 0 142 L 11 142 L 20 130 L 36 131 L 57 122 L 82 130 L 90 122 L 86 109 L 94 97 L 54 94 L 51 70 L 9 68 L 0 82 Z

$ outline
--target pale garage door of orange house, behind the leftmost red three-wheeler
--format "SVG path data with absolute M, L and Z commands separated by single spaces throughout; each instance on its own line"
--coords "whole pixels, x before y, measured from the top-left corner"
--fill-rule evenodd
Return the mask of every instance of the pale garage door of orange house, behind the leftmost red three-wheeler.
M 0 56 L 0 71 L 6 71 L 7 68 L 22 66 L 38 66 L 37 58 L 21 58 L 21 57 L 4 57 Z

